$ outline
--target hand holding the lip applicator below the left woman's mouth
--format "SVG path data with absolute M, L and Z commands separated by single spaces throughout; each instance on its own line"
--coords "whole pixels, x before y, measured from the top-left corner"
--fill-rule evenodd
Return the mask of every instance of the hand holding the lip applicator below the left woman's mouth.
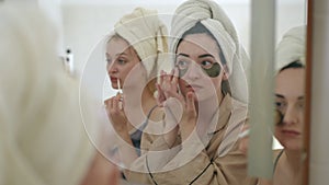
M 118 135 L 126 135 L 128 132 L 127 117 L 124 113 L 124 102 L 122 100 L 122 94 L 116 94 L 115 96 L 106 100 L 105 108 L 107 117 Z

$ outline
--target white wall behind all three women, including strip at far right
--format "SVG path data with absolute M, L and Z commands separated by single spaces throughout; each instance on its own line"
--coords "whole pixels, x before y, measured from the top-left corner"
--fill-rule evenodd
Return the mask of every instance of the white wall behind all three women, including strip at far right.
M 120 20 L 125 13 L 129 13 L 134 8 L 140 5 L 150 9 L 157 9 L 160 18 L 170 27 L 170 16 L 174 9 L 182 0 L 166 0 L 166 1 L 104 1 L 104 0 L 66 0 L 61 3 L 63 13 L 63 30 L 64 30 L 64 47 L 70 47 L 75 55 L 76 70 L 81 73 L 83 66 L 88 60 L 95 45 L 109 34 L 113 24 Z M 250 1 L 248 0 L 217 0 L 217 2 L 227 12 L 237 27 L 240 39 L 247 50 L 250 45 Z M 280 0 L 277 1 L 277 39 L 291 26 L 305 23 L 305 1 L 297 0 Z M 99 51 L 99 55 L 103 55 Z M 105 73 L 105 61 L 102 58 L 94 59 L 102 62 L 98 67 L 90 65 L 90 68 L 95 68 L 92 71 Z M 98 77 L 98 78 L 105 78 Z M 101 80 L 104 81 L 105 79 Z M 99 94 L 99 84 L 95 81 L 99 79 L 87 80 L 90 83 L 90 89 L 94 95 L 101 99 Z M 105 85 L 105 96 L 114 93 L 109 85 Z

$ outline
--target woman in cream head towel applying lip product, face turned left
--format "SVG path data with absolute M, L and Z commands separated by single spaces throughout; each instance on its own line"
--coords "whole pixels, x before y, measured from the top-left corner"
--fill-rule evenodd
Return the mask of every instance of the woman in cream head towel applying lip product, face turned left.
M 106 100 L 105 105 L 120 137 L 114 151 L 126 169 L 135 165 L 134 161 L 155 139 L 148 130 L 161 128 L 156 124 L 162 119 L 162 112 L 157 106 L 155 90 L 159 69 L 170 66 L 164 57 L 167 36 L 167 27 L 156 10 L 136 8 L 121 18 L 106 38 L 106 70 L 118 93 Z M 131 180 L 132 173 L 124 172 Z

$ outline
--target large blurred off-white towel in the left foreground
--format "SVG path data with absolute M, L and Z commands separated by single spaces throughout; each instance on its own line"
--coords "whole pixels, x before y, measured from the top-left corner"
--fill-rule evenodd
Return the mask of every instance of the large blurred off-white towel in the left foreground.
M 35 7 L 0 4 L 2 185 L 78 185 L 95 154 L 55 30 Z

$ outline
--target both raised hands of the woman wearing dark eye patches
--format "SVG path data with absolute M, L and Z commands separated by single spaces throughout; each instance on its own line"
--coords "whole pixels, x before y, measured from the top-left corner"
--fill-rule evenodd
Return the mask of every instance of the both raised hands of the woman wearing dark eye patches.
M 172 146 L 180 130 L 182 139 L 186 139 L 196 125 L 196 109 L 194 104 L 194 94 L 189 92 L 186 97 L 178 91 L 177 68 L 169 74 L 161 71 L 160 83 L 158 89 L 158 104 L 164 107 L 164 135 L 166 141 Z M 170 131 L 169 131 L 170 130 Z

